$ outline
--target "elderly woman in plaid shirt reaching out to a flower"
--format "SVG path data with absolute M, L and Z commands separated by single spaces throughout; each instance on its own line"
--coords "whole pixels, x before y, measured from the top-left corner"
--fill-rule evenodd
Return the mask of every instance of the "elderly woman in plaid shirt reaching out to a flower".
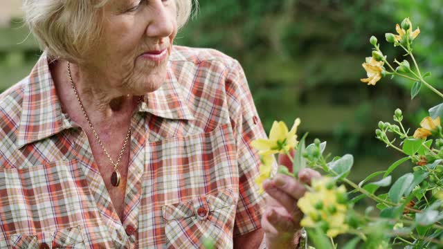
M 241 66 L 173 45 L 191 6 L 24 0 L 44 53 L 0 95 L 0 248 L 296 246 L 305 189 L 257 194 Z

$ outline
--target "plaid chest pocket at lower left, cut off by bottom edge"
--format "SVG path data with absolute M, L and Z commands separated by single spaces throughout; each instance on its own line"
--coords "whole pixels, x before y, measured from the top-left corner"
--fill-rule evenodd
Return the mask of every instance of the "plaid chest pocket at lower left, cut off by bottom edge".
M 37 234 L 10 234 L 10 248 L 85 248 L 80 227 Z

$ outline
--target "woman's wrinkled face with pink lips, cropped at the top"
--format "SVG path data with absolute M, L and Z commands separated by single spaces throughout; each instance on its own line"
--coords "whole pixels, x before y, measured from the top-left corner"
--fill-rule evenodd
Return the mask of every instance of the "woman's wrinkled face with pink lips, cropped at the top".
M 104 8 L 100 45 L 84 66 L 122 95 L 159 89 L 177 35 L 175 0 L 111 0 Z

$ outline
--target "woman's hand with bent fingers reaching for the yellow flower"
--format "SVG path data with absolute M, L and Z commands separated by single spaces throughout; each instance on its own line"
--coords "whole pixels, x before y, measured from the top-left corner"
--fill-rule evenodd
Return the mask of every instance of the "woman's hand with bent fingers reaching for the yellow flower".
M 302 169 L 298 172 L 298 180 L 277 174 L 264 181 L 264 191 L 269 194 L 262 216 L 267 248 L 294 248 L 298 244 L 302 212 L 297 202 L 306 192 L 303 185 L 310 185 L 312 178 L 320 176 L 314 169 Z

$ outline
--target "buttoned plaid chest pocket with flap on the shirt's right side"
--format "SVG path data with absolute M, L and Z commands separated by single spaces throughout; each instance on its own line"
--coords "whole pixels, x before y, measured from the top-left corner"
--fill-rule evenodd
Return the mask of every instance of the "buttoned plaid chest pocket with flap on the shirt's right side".
M 167 248 L 233 247 L 235 199 L 230 190 L 162 207 Z

